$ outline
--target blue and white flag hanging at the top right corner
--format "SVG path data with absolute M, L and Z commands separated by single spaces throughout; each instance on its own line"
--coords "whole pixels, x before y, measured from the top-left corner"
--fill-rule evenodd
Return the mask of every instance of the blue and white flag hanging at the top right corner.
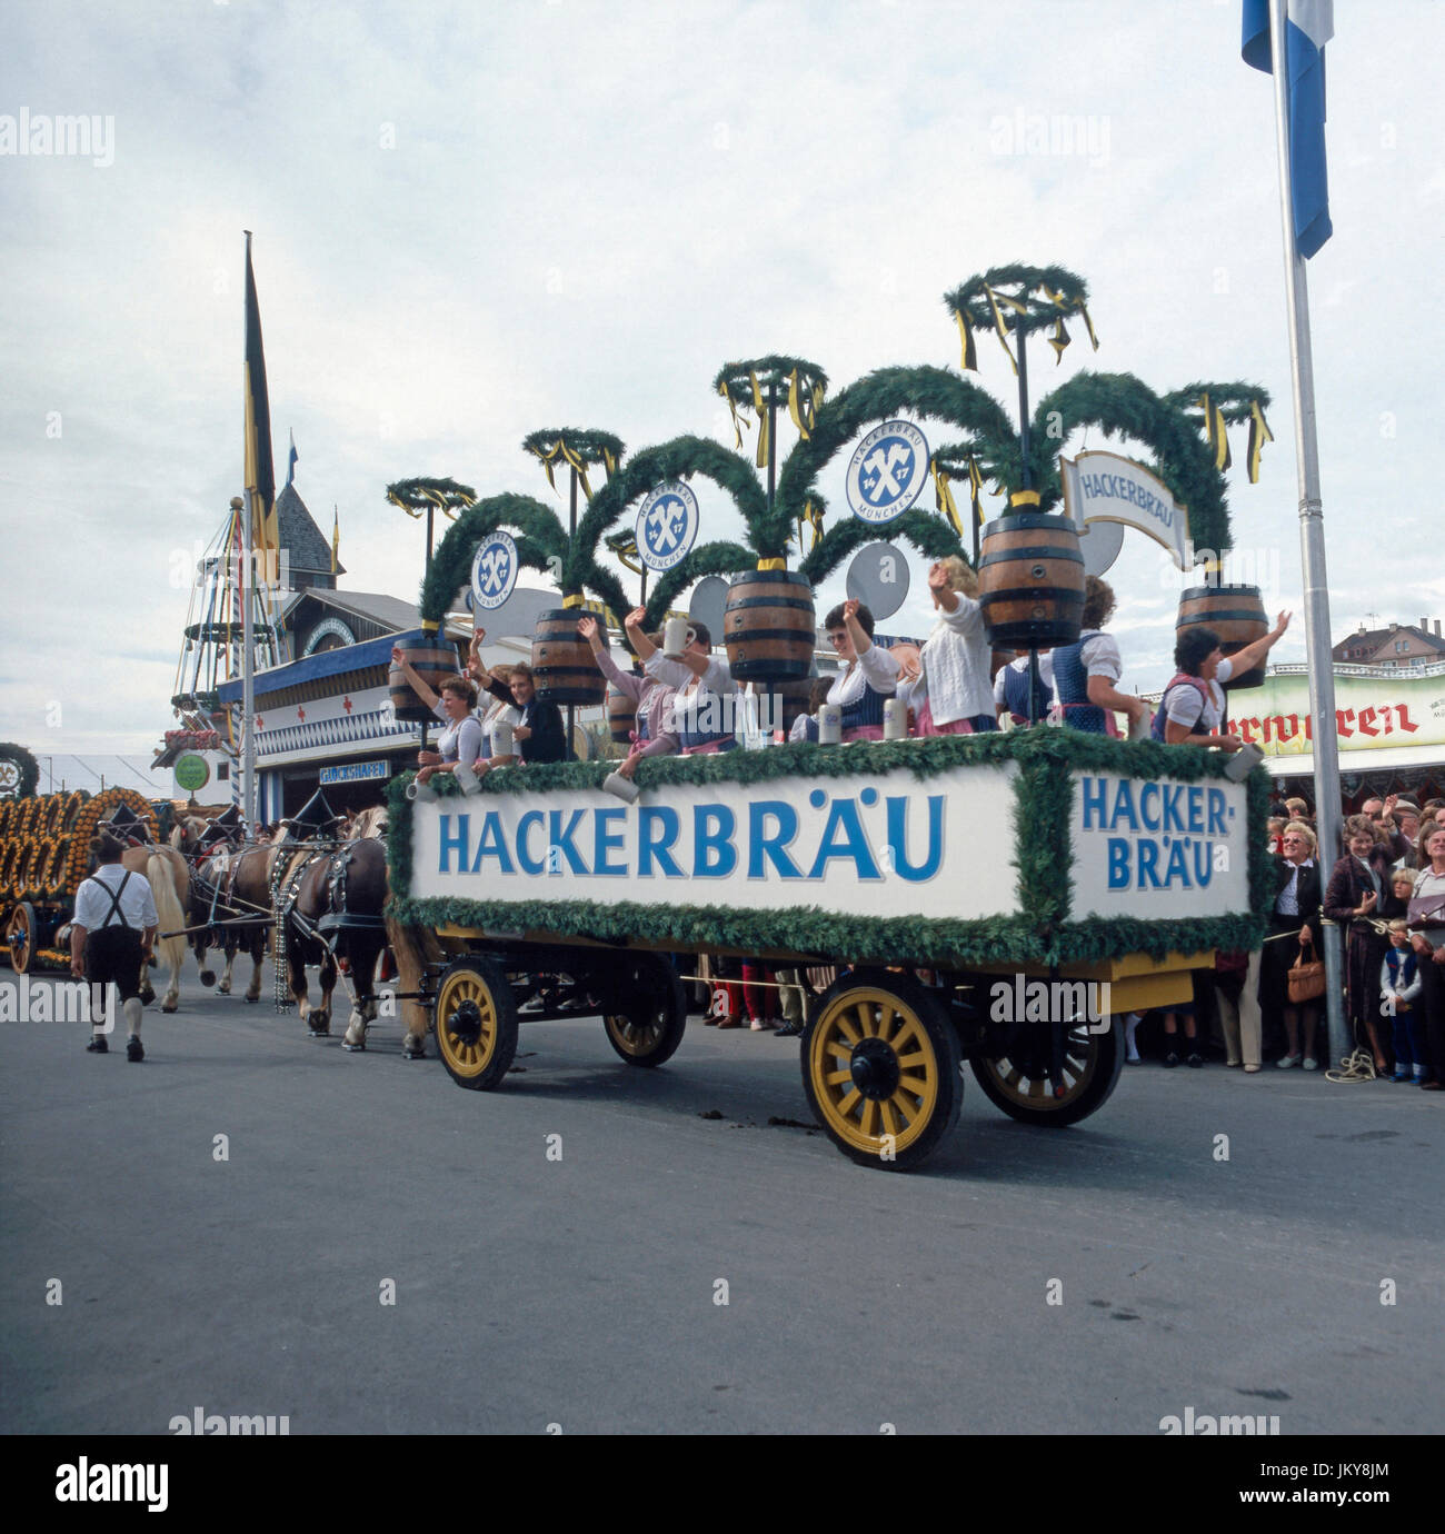
M 1335 35 L 1335 0 L 1287 0 L 1290 187 L 1295 244 L 1305 259 L 1330 238 L 1324 155 L 1324 46 Z M 1244 0 L 1244 61 L 1272 74 L 1270 0 Z

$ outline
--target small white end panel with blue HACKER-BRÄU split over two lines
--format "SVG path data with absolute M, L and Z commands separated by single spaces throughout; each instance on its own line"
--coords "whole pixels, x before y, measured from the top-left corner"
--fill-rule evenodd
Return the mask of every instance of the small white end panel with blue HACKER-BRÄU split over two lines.
M 1244 784 L 1074 773 L 1071 919 L 1249 911 Z

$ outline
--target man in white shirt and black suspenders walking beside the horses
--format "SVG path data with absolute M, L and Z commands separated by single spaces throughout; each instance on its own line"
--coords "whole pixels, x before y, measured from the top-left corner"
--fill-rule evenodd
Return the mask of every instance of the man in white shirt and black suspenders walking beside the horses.
M 71 928 L 71 974 L 91 985 L 91 1054 L 106 1054 L 104 991 L 114 985 L 126 1014 L 126 1058 L 144 1060 L 141 1046 L 141 966 L 150 957 L 156 928 L 155 896 L 143 873 L 121 867 L 124 844 L 109 831 L 91 842 L 95 873 L 75 891 Z

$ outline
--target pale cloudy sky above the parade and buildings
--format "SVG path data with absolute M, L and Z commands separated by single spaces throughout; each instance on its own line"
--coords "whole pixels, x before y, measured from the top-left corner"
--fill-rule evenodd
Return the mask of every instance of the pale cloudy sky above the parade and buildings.
M 242 229 L 278 485 L 295 431 L 350 589 L 416 598 L 419 525 L 391 480 L 549 499 L 518 443 L 557 425 L 730 445 L 709 388 L 729 359 L 799 354 L 834 387 L 957 367 L 943 291 L 1025 261 L 1088 281 L 1101 344 L 1078 336 L 1057 370 L 1038 347 L 1035 393 L 1083 367 L 1270 390 L 1278 440 L 1259 485 L 1233 471 L 1230 506 L 1266 600 L 1299 606 L 1273 95 L 1239 60 L 1238 0 L 5 12 L 0 120 L 97 133 L 89 156 L 0 155 L 0 739 L 144 753 L 172 724 L 175 572 L 242 488 Z M 1339 637 L 1445 617 L 1445 9 L 1342 3 L 1336 26 L 1336 233 L 1310 296 Z M 1080 141 L 1031 149 L 1040 118 Z M 997 344 L 979 357 L 1012 411 Z M 704 537 L 735 537 L 699 494 Z M 1111 580 L 1126 684 L 1160 686 L 1180 578 L 1131 534 Z M 927 623 L 914 600 L 888 627 Z M 1302 632 L 1276 657 L 1302 660 Z

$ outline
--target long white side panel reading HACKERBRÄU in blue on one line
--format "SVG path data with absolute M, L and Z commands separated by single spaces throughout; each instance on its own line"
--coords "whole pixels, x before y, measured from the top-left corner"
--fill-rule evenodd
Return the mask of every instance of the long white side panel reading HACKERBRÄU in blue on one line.
M 917 779 L 670 784 L 413 804 L 414 896 L 638 900 L 839 916 L 1019 910 L 1014 762 Z

